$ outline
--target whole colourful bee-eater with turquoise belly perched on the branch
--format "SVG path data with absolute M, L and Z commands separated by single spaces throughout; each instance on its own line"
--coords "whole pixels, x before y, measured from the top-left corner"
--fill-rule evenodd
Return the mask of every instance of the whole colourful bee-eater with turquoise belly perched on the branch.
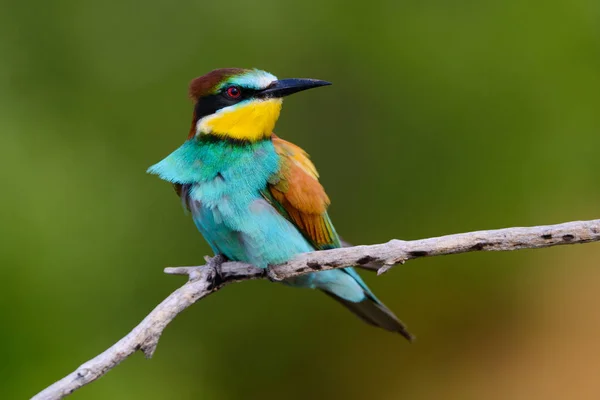
M 329 82 L 218 69 L 192 80 L 187 141 L 148 172 L 175 185 L 215 254 L 260 268 L 299 253 L 341 247 L 329 198 L 308 155 L 273 133 L 284 96 Z M 285 283 L 320 289 L 365 322 L 411 334 L 353 268 Z

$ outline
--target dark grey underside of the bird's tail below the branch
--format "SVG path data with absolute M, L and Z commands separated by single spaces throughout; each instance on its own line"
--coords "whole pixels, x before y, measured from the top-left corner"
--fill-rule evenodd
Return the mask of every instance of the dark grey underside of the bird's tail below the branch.
M 323 293 L 338 301 L 367 324 L 383 328 L 390 332 L 399 333 L 409 341 L 414 339 L 414 336 L 406 329 L 406 326 L 402 321 L 400 321 L 383 303 L 370 296 L 370 294 L 367 293 L 367 296 L 363 301 L 354 303 L 326 290 L 323 290 Z

